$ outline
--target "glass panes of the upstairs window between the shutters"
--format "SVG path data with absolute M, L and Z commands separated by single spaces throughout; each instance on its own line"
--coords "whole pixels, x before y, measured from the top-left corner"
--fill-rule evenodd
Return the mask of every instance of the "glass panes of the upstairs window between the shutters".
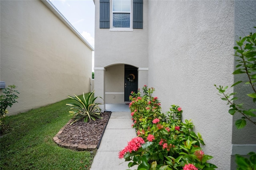
M 131 28 L 131 0 L 112 0 L 112 28 Z

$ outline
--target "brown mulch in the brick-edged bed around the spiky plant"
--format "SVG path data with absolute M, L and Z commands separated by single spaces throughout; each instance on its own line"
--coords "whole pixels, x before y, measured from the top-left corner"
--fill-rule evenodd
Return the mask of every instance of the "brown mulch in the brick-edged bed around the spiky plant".
M 102 113 L 101 117 L 103 119 L 88 121 L 88 123 L 77 121 L 72 125 L 67 125 L 57 137 L 63 143 L 68 144 L 98 145 L 104 127 L 108 123 L 110 112 Z

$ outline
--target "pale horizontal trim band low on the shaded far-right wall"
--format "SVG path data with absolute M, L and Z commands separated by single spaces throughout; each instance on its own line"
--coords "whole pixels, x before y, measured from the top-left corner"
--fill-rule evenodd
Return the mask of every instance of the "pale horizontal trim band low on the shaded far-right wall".
M 232 145 L 232 155 L 247 155 L 249 152 L 256 152 L 256 144 L 252 145 Z

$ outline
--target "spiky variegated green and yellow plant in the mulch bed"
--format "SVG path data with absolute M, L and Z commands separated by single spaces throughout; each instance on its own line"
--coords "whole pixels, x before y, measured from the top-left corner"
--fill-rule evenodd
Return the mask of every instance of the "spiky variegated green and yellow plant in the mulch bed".
M 69 113 L 71 113 L 69 116 L 73 116 L 73 118 L 72 118 L 73 121 L 70 123 L 70 125 L 72 125 L 74 122 L 80 121 L 80 120 L 84 120 L 84 122 L 88 122 L 88 120 L 95 121 L 96 118 L 102 119 L 102 117 L 100 117 L 102 110 L 98 106 L 98 105 L 100 105 L 100 103 L 94 103 L 94 101 L 99 96 L 96 98 L 93 98 L 93 94 L 94 94 L 94 91 L 90 92 L 89 96 L 86 97 L 86 96 L 84 96 L 84 93 L 83 93 L 82 99 L 80 99 L 75 94 L 74 94 L 75 95 L 74 97 L 68 96 L 69 98 L 76 100 L 78 102 L 78 104 L 75 104 L 75 103 L 66 104 L 66 106 L 71 106 L 70 109 L 72 110 L 72 111 L 69 111 Z M 101 98 L 101 97 L 99 97 L 99 98 Z

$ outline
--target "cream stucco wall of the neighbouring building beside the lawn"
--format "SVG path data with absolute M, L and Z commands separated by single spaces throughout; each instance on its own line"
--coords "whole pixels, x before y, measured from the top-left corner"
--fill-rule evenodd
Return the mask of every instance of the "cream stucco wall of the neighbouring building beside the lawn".
M 92 50 L 41 1 L 0 1 L 1 81 L 15 84 L 10 114 L 89 92 Z

